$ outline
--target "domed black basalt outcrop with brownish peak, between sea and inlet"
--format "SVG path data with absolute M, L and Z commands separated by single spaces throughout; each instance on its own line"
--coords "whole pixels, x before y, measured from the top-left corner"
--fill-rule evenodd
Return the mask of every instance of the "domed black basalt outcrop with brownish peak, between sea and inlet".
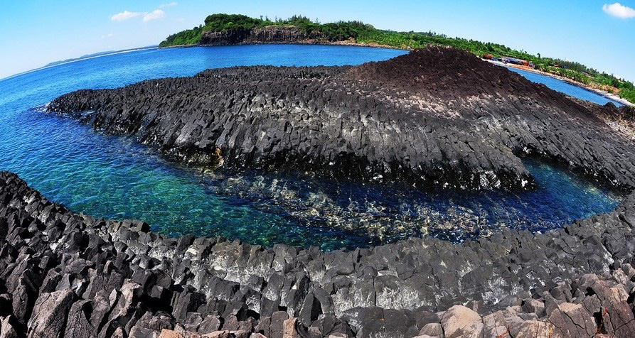
M 635 186 L 634 149 L 587 107 L 461 50 L 356 67 L 232 67 L 50 103 L 203 165 L 301 168 L 418 187 L 527 188 L 533 154 Z

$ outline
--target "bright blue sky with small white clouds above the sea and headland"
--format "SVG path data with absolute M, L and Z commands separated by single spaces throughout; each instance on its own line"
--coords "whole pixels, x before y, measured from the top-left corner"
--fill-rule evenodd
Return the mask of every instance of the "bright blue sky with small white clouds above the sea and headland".
M 104 50 L 158 44 L 210 13 L 361 20 L 575 60 L 635 81 L 635 0 L 2 1 L 0 78 Z

